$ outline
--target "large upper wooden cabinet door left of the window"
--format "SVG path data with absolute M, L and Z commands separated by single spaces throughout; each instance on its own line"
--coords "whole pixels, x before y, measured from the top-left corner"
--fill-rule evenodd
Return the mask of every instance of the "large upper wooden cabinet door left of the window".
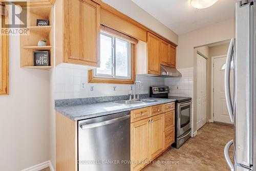
M 63 7 L 65 62 L 99 67 L 100 6 L 91 0 L 65 0 Z

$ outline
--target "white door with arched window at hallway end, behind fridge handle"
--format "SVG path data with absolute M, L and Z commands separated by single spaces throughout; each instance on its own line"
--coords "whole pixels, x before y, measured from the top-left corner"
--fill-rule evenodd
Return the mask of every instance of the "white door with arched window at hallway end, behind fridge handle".
M 231 123 L 226 104 L 224 78 L 227 57 L 214 58 L 214 121 Z M 230 72 L 230 91 L 233 96 L 233 69 Z

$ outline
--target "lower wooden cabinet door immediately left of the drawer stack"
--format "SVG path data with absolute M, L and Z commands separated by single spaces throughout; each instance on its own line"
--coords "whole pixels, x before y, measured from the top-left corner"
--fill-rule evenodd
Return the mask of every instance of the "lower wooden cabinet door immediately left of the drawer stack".
M 150 118 L 150 156 L 151 160 L 163 151 L 163 114 Z

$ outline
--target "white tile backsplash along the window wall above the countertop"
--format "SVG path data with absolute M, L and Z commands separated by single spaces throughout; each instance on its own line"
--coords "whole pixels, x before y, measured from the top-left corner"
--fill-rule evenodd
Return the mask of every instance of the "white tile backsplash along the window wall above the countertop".
M 55 99 L 86 98 L 100 96 L 127 95 L 131 84 L 88 83 L 88 70 L 58 66 L 56 69 Z M 136 75 L 142 81 L 142 87 L 136 86 L 137 93 L 149 93 L 150 86 L 164 86 L 164 78 Z M 81 90 L 81 82 L 86 82 L 86 89 Z M 94 91 L 90 87 L 94 86 Z M 116 90 L 113 87 L 116 86 Z

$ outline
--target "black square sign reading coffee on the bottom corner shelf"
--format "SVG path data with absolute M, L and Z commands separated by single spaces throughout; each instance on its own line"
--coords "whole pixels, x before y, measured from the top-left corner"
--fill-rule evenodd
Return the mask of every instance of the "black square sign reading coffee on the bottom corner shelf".
M 34 51 L 34 66 L 50 66 L 50 51 Z

